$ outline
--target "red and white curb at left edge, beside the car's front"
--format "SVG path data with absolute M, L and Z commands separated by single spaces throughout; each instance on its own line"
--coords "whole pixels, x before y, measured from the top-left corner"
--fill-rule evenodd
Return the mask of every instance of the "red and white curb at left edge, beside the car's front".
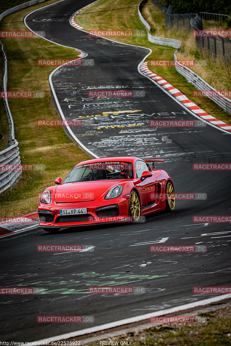
M 31 219 L 28 221 L 27 219 Z M 0 222 L 0 237 L 8 236 L 9 234 L 25 231 L 38 226 L 38 213 L 27 214 L 12 218 L 10 221 Z

